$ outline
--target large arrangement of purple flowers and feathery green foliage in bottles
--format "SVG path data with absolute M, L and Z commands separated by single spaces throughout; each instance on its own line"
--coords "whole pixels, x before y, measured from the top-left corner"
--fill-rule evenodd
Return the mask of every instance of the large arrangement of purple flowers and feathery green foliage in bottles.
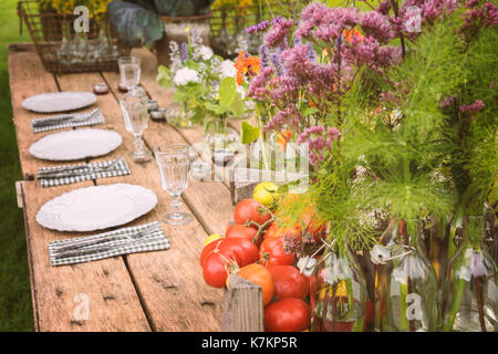
M 446 225 L 450 257 L 455 233 L 449 230 L 466 230 L 461 220 L 485 208 L 497 212 L 497 25 L 498 11 L 489 1 L 386 0 L 369 12 L 315 2 L 299 19 L 277 17 L 248 29 L 264 35 L 261 70 L 248 87 L 264 117 L 262 132 L 282 134 L 286 140 L 295 135 L 308 145 L 313 166 L 309 194 L 280 212 L 282 227 L 291 227 L 305 207 L 315 205 L 317 216 L 328 221 L 323 247 L 342 256 L 353 250 L 370 264 L 364 271 L 370 272 L 371 294 L 381 289 L 394 296 L 381 283 L 380 269 L 386 263 L 375 254 L 394 258 L 388 264 L 403 278 L 400 309 L 393 323 L 391 310 L 378 314 L 380 330 L 421 329 L 404 316 L 411 292 L 428 294 L 422 308 L 430 316 L 429 330 L 455 329 L 469 280 L 448 271 L 445 289 L 453 298 L 446 320 L 436 319 L 435 270 L 424 260 L 426 278 L 419 282 L 409 268 L 411 262 L 422 264 L 425 256 L 417 246 L 423 232 L 408 220 L 423 220 L 429 233 L 437 222 Z M 485 254 L 485 232 L 475 229 L 463 244 Z M 444 239 L 438 235 L 432 240 L 438 237 Z M 289 238 L 287 247 L 303 250 L 307 242 L 303 232 Z M 382 252 L 371 253 L 374 244 Z M 442 277 L 439 260 L 432 261 Z M 491 270 L 475 281 L 492 281 L 494 274 Z M 390 279 L 390 273 L 382 277 Z M 484 313 L 487 290 L 471 291 Z M 343 309 L 354 304 L 352 298 L 320 301 L 329 301 L 328 306 L 339 302 Z M 381 302 L 393 305 L 386 298 Z M 477 330 L 492 327 L 476 316 Z

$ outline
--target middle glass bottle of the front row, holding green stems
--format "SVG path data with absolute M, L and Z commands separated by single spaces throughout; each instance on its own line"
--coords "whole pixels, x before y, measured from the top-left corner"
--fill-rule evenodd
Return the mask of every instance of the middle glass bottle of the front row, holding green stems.
M 402 219 L 383 235 L 390 257 L 376 266 L 376 330 L 435 331 L 437 281 L 422 246 L 422 220 Z

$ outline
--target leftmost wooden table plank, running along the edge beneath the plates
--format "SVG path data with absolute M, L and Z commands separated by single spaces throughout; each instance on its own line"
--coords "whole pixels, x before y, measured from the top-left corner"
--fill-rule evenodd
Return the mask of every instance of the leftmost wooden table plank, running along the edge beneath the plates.
M 48 162 L 35 159 L 27 149 L 32 142 L 45 134 L 31 132 L 29 121 L 39 115 L 27 112 L 21 107 L 21 102 L 33 94 L 55 92 L 59 87 L 53 75 L 44 71 L 35 53 L 10 54 L 9 71 L 21 166 L 23 173 L 34 174 L 39 166 L 48 165 Z M 50 264 L 49 242 L 75 233 L 58 232 L 41 227 L 35 221 L 39 208 L 63 192 L 93 185 L 92 181 L 55 188 L 42 188 L 38 181 L 25 181 L 22 185 L 35 329 L 149 331 L 151 326 L 122 258 L 68 267 Z M 75 299 L 79 294 L 83 295 Z M 77 303 L 84 301 L 85 295 L 89 296 L 87 320 L 84 320 L 84 312 L 79 312 L 79 309 L 82 309 L 79 305 L 83 304 Z

